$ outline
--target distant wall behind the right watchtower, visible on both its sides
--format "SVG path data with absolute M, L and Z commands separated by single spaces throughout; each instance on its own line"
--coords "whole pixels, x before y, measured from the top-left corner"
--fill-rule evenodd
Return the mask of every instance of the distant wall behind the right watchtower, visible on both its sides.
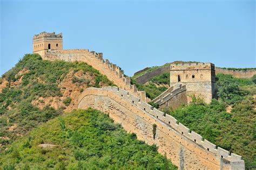
M 135 78 L 135 80 L 139 84 L 143 84 L 147 81 L 149 81 L 152 77 L 161 75 L 163 73 L 169 73 L 170 69 L 169 66 L 160 67 L 158 69 L 154 69 L 150 72 L 144 73 L 138 77 Z M 218 68 L 215 67 L 215 74 L 230 74 L 234 77 L 238 78 L 251 78 L 253 75 L 256 74 L 256 69 L 245 69 L 245 70 L 232 70 L 232 69 L 224 69 L 224 68 Z

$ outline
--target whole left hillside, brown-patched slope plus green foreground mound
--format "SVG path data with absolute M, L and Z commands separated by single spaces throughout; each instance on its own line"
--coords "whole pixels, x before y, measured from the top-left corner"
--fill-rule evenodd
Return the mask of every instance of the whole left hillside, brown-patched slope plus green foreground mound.
M 67 113 L 83 90 L 104 86 L 114 84 L 84 62 L 26 54 L 0 81 L 0 167 L 176 169 L 102 112 Z

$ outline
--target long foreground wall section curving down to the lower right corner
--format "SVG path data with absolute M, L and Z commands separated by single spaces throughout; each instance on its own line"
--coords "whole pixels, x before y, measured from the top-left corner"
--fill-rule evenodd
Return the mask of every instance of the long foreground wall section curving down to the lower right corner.
M 129 91 L 117 87 L 86 89 L 78 98 L 78 108 L 95 108 L 109 114 L 139 140 L 158 146 L 179 169 L 244 169 L 241 156 L 216 147 L 177 119 L 153 108 Z M 153 124 L 157 125 L 153 138 Z

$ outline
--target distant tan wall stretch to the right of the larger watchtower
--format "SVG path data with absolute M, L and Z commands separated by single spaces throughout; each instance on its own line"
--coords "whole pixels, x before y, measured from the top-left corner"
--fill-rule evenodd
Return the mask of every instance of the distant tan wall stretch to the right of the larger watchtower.
M 223 73 L 223 74 L 231 74 L 234 77 L 238 78 L 251 78 L 253 75 L 256 74 L 255 69 L 246 69 L 246 70 L 231 70 L 231 69 L 223 69 L 223 68 L 215 68 L 216 74 Z

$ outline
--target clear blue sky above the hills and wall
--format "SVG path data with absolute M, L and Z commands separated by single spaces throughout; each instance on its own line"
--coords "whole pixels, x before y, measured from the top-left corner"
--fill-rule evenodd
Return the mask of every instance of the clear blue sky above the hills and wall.
M 1 1 L 2 75 L 32 52 L 33 34 L 103 52 L 127 75 L 175 60 L 256 67 L 255 1 Z

